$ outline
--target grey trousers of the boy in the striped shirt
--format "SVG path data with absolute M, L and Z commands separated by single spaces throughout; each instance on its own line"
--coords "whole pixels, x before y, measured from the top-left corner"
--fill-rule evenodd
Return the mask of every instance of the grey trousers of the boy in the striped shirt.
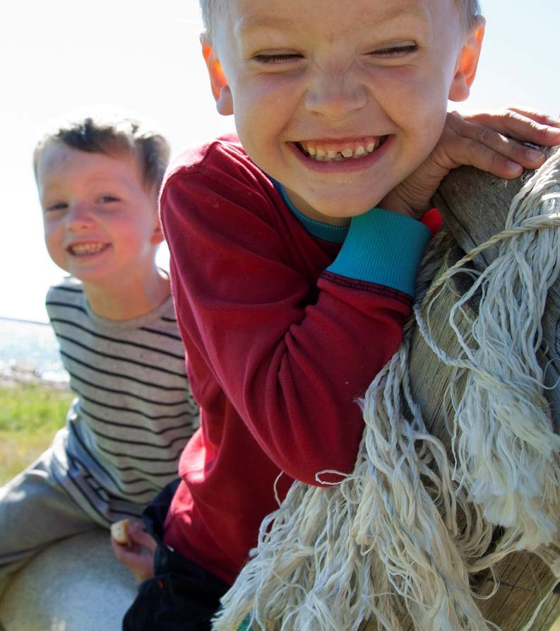
M 57 483 L 52 450 L 0 488 L 0 596 L 10 574 L 59 539 L 99 526 Z M 105 524 L 103 524 L 105 525 Z

